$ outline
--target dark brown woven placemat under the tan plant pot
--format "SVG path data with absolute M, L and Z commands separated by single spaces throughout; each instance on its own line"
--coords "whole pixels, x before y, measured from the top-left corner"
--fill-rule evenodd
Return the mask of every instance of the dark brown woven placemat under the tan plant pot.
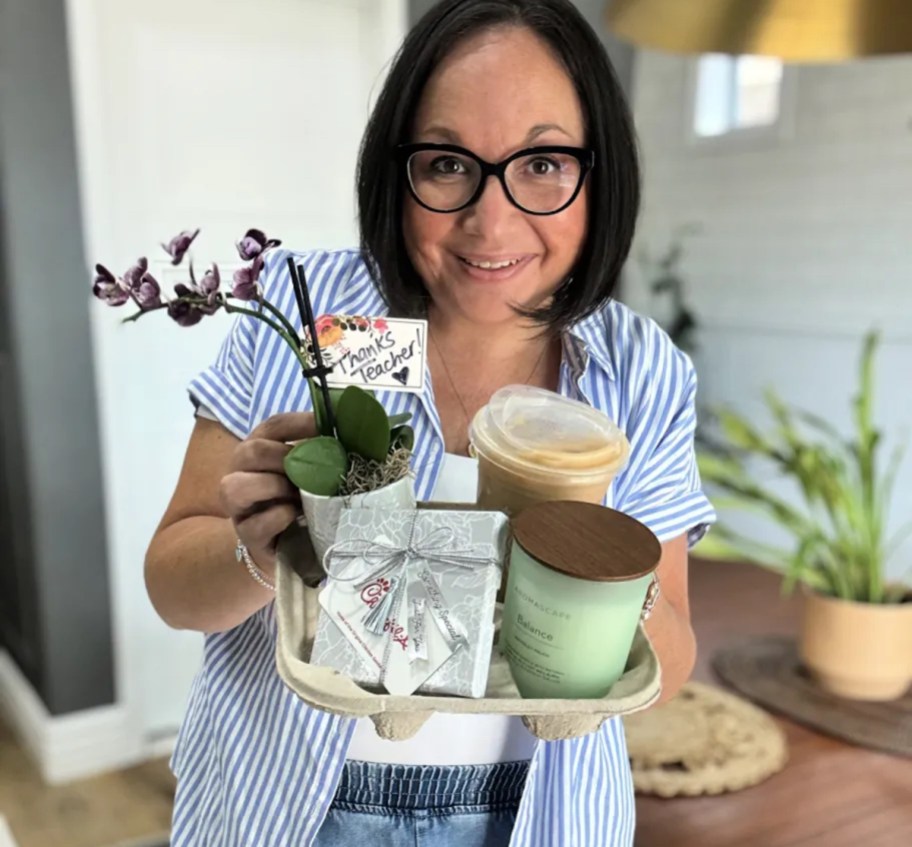
M 794 639 L 745 639 L 715 653 L 713 669 L 745 697 L 798 723 L 862 747 L 912 756 L 912 692 L 888 703 L 830 694 L 805 672 Z

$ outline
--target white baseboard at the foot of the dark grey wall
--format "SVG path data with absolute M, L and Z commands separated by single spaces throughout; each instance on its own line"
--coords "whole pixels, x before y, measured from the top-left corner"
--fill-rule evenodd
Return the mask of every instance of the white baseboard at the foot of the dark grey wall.
M 50 785 L 148 758 L 142 735 L 124 706 L 52 716 L 5 650 L 0 650 L 0 713 Z

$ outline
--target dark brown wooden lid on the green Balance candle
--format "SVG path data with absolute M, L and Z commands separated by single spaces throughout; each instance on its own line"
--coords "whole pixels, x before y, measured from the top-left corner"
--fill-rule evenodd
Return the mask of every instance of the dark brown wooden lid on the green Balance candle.
M 662 555 L 658 538 L 638 520 L 593 503 L 537 503 L 510 525 L 516 543 L 533 559 L 592 582 L 646 576 Z

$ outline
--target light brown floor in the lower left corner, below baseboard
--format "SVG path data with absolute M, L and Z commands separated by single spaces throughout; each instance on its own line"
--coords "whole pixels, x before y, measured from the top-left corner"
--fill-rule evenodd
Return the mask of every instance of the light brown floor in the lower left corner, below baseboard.
M 168 831 L 173 796 L 174 778 L 163 759 L 48 788 L 0 723 L 0 815 L 17 847 L 151 843 L 146 839 Z

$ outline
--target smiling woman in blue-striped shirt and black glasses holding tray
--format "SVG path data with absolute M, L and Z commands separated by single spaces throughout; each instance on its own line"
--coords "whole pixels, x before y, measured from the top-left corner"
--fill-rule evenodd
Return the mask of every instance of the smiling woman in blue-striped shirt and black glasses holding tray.
M 632 444 L 608 502 L 663 542 L 648 630 L 671 696 L 694 661 L 688 543 L 712 510 L 694 463 L 692 367 L 610 299 L 638 167 L 598 38 L 568 0 L 440 3 L 391 69 L 358 188 L 362 250 L 299 261 L 318 314 L 427 318 L 427 390 L 378 395 L 413 414 L 419 499 L 474 496 L 467 424 L 503 385 L 604 410 Z M 263 284 L 294 320 L 288 255 L 272 251 Z M 298 514 L 286 442 L 315 430 L 293 358 L 260 326 L 239 320 L 191 386 L 198 420 L 146 562 L 161 616 L 209 633 L 174 755 L 172 844 L 630 845 L 617 720 L 536 743 L 517 719 L 439 715 L 397 744 L 283 687 L 273 596 L 234 549 L 239 539 L 273 573 L 276 535 Z

